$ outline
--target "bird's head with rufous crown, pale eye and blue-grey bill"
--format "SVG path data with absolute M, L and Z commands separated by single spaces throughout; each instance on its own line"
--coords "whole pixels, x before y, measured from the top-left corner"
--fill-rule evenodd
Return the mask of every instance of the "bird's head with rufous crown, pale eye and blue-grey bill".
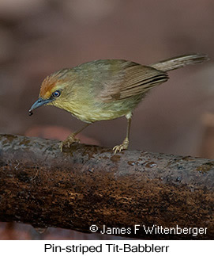
M 30 116 L 32 115 L 32 110 L 42 105 L 62 105 L 67 95 L 66 88 L 69 86 L 69 72 L 69 69 L 63 69 L 51 74 L 43 80 L 39 98 L 29 110 Z

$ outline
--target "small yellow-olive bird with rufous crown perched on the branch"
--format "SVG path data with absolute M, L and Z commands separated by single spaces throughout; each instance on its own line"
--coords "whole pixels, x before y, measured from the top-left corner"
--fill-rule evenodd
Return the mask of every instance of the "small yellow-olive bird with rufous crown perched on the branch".
M 113 148 L 117 153 L 128 148 L 133 109 L 148 91 L 168 80 L 167 71 L 205 60 L 208 60 L 205 54 L 190 54 L 143 66 L 124 59 L 99 59 L 65 68 L 43 80 L 39 99 L 29 115 L 42 105 L 54 105 L 86 123 L 62 141 L 61 151 L 71 143 L 80 142 L 76 136 L 89 124 L 125 116 L 126 138 Z

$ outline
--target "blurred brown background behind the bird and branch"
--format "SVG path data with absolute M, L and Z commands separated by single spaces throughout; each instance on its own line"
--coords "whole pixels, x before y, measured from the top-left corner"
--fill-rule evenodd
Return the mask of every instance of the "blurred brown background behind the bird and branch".
M 58 69 L 93 59 L 149 64 L 199 52 L 211 60 L 172 71 L 136 109 L 130 149 L 214 158 L 213 13 L 212 0 L 0 0 L 0 132 L 64 139 L 81 126 L 53 107 L 28 117 L 43 78 Z M 83 141 L 113 147 L 125 133 L 125 118 L 103 121 L 86 129 Z M 31 230 L 25 227 L 16 232 Z M 33 231 L 11 236 L 12 230 L 2 224 L 0 239 L 38 239 Z

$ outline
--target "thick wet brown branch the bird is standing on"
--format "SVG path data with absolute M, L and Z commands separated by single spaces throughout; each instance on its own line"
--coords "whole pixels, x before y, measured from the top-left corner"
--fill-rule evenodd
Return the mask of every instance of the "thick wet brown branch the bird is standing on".
M 213 160 L 147 151 L 114 155 L 81 144 L 61 153 L 58 141 L 0 136 L 1 221 L 85 232 L 92 224 L 126 227 L 120 235 L 141 239 L 213 239 L 213 213 Z M 207 230 L 146 234 L 143 225 L 153 224 Z

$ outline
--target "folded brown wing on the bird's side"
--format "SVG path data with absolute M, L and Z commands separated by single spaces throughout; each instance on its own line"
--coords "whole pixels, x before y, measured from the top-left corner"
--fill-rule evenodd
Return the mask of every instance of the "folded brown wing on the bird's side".
M 167 79 L 167 73 L 164 71 L 126 61 L 121 63 L 120 71 L 105 79 L 98 97 L 103 102 L 122 100 L 145 94 L 153 86 L 166 82 Z

